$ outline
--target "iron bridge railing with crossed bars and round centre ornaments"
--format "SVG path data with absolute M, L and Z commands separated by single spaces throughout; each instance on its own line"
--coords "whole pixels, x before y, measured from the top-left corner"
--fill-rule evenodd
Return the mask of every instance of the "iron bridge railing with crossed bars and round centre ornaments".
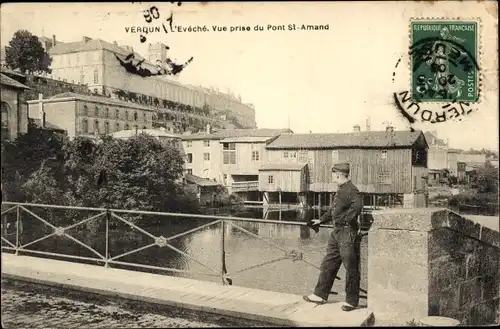
M 266 219 L 254 219 L 254 218 L 242 218 L 242 217 L 221 217 L 221 216 L 214 216 L 214 215 L 197 215 L 197 214 L 183 214 L 183 213 L 166 213 L 166 212 L 151 212 L 151 211 L 139 211 L 139 210 L 120 210 L 120 209 L 105 209 L 105 208 L 88 208 L 88 207 L 69 207 L 69 206 L 58 206 L 58 205 L 47 205 L 47 204 L 31 204 L 31 203 L 16 203 L 16 202 L 2 202 L 2 208 L 7 208 L 6 210 L 1 212 L 2 217 L 6 215 L 7 213 L 11 213 L 12 211 L 16 212 L 16 220 L 15 220 L 15 241 L 10 241 L 7 239 L 7 237 L 4 234 L 4 229 L 2 228 L 2 241 L 5 242 L 5 245 L 2 245 L 2 250 L 11 250 L 14 251 L 14 253 L 17 255 L 19 252 L 23 253 L 32 253 L 32 254 L 39 254 L 39 255 L 45 255 L 45 256 L 57 256 L 57 257 L 62 257 L 62 258 L 68 258 L 68 259 L 80 259 L 80 260 L 87 260 L 87 261 L 95 261 L 97 263 L 103 264 L 105 267 L 109 267 L 110 264 L 115 264 L 115 265 L 122 265 L 122 266 L 131 266 L 131 267 L 136 267 L 136 268 L 144 268 L 144 269 L 149 269 L 149 270 L 161 270 L 161 271 L 167 271 L 167 272 L 191 272 L 191 271 L 186 271 L 186 270 L 180 270 L 180 269 L 175 269 L 175 268 L 168 268 L 168 267 L 162 267 L 162 266 L 153 266 L 153 265 L 146 265 L 146 264 L 139 264 L 139 263 L 133 263 L 133 262 L 124 262 L 120 261 L 119 259 L 137 253 L 139 251 L 151 248 L 153 246 L 158 246 L 160 248 L 169 248 L 173 251 L 175 251 L 178 254 L 181 254 L 182 256 L 192 260 L 193 262 L 201 265 L 205 269 L 207 269 L 209 272 L 208 273 L 201 273 L 204 275 L 210 275 L 210 276 L 218 276 L 222 280 L 222 283 L 224 285 L 231 285 L 232 280 L 239 276 L 241 273 L 255 269 L 257 267 L 262 267 L 265 265 L 269 265 L 272 263 L 276 263 L 281 260 L 285 259 L 290 259 L 292 261 L 301 261 L 309 266 L 315 267 L 316 269 L 319 269 L 319 266 L 310 262 L 309 260 L 304 258 L 304 252 L 298 248 L 291 248 L 287 249 L 282 246 L 279 246 L 271 241 L 267 241 L 263 239 L 262 237 L 259 237 L 257 234 L 254 234 L 250 232 L 249 230 L 241 227 L 240 225 L 235 224 L 234 222 L 250 222 L 250 223 L 266 223 L 266 224 L 281 224 L 281 225 L 292 225 L 292 226 L 306 226 L 307 223 L 304 222 L 292 222 L 292 221 L 276 221 L 276 220 L 266 220 Z M 6 206 L 6 207 L 4 207 Z M 82 219 L 74 224 L 68 225 L 68 226 L 56 226 L 50 223 L 48 220 L 42 218 L 41 216 L 35 214 L 33 211 L 29 210 L 27 207 L 37 207 L 37 208 L 44 208 L 44 209 L 61 209 L 61 210 L 77 210 L 77 211 L 94 211 L 98 212 L 95 215 L 92 215 L 90 217 L 87 217 L 85 219 Z M 20 235 L 22 234 L 22 228 L 21 228 L 21 212 L 27 213 L 31 215 L 33 218 L 37 219 L 38 221 L 42 222 L 43 224 L 47 225 L 51 229 L 51 233 L 46 234 L 38 239 L 35 239 L 34 241 L 21 244 L 21 239 Z M 123 214 L 134 214 L 134 215 L 154 215 L 154 216 L 170 216 L 170 217 L 177 217 L 177 218 L 199 218 L 199 219 L 205 219 L 205 220 L 210 220 L 212 219 L 213 221 L 198 226 L 196 228 L 184 231 L 179 234 L 174 234 L 170 237 L 164 237 L 164 236 L 156 236 L 143 228 L 139 227 L 138 225 L 134 224 L 133 222 L 124 219 Z M 77 226 L 83 225 L 91 220 L 95 219 L 102 219 L 104 218 L 105 220 L 105 253 L 104 255 L 100 253 L 99 251 L 95 250 L 88 244 L 80 241 L 79 239 L 71 236 L 68 233 L 69 229 L 75 228 Z M 133 250 L 121 253 L 119 255 L 111 256 L 110 254 L 110 225 L 109 222 L 110 220 L 114 218 L 117 219 L 118 221 L 121 221 L 125 223 L 126 225 L 130 226 L 131 228 L 141 232 L 142 234 L 152 238 L 154 240 L 153 243 L 147 244 L 145 246 L 135 248 Z M 3 223 L 3 221 L 2 221 Z M 170 242 L 174 239 L 177 239 L 179 237 L 186 236 L 188 234 L 194 233 L 196 231 L 200 231 L 202 229 L 205 229 L 210 226 L 214 226 L 220 224 L 220 230 L 221 230 L 221 238 L 220 238 L 220 247 L 221 247 L 221 268 L 213 268 L 207 264 L 204 264 L 202 261 L 196 259 L 192 255 L 187 254 L 186 252 L 174 247 Z M 269 246 L 272 246 L 275 249 L 278 249 L 283 252 L 283 255 L 281 257 L 278 257 L 276 259 L 270 260 L 270 261 L 265 261 L 260 264 L 255 264 L 248 266 L 246 268 L 242 268 L 239 270 L 236 270 L 234 273 L 229 274 L 226 266 L 226 243 L 225 243 L 225 231 L 226 227 L 230 226 L 235 228 L 238 231 L 241 231 L 247 235 L 250 235 L 263 243 L 266 243 Z M 327 227 L 327 228 L 332 228 L 333 226 L 331 225 L 321 225 L 321 227 Z M 78 245 L 84 247 L 85 249 L 89 250 L 93 255 L 96 257 L 84 257 L 84 256 L 77 256 L 77 255 L 68 255 L 64 253 L 59 253 L 59 252 L 48 252 L 48 251 L 40 251 L 40 250 L 34 250 L 34 249 L 29 249 L 27 247 L 43 241 L 45 239 L 48 239 L 53 236 L 59 236 L 59 237 L 66 237 L 73 242 L 77 243 Z M 340 279 L 337 277 L 337 279 Z M 362 292 L 366 293 L 365 290 L 361 289 Z

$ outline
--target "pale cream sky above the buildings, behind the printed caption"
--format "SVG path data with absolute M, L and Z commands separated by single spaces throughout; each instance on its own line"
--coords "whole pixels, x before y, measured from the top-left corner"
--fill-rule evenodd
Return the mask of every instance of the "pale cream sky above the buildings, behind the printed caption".
M 139 33 L 125 28 L 148 26 L 142 10 L 155 5 L 160 26 L 173 12 L 173 25 L 206 25 L 208 32 Z M 498 150 L 498 40 L 496 2 L 236 2 L 183 3 L 40 3 L 1 5 L 1 39 L 27 29 L 62 42 L 82 36 L 130 45 L 142 55 L 148 43 L 170 47 L 169 57 L 193 62 L 175 78 L 186 84 L 230 90 L 256 109 L 259 128 L 290 128 L 295 133 L 371 130 L 392 125 L 407 130 L 393 93 L 409 89 L 407 64 L 394 67 L 409 46 L 409 21 L 422 17 L 479 17 L 479 65 L 482 98 L 478 110 L 462 121 L 420 124 L 454 148 Z M 212 26 L 262 25 L 264 31 L 213 32 Z M 268 25 L 328 24 L 328 30 L 272 31 Z M 404 61 L 403 61 L 404 62 Z

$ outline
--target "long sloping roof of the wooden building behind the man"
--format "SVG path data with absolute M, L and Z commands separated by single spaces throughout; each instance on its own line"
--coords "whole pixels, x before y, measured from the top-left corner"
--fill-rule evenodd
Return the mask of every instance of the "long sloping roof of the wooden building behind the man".
M 362 131 L 337 134 L 284 134 L 266 146 L 267 149 L 324 148 L 394 148 L 410 147 L 422 136 L 421 131 Z

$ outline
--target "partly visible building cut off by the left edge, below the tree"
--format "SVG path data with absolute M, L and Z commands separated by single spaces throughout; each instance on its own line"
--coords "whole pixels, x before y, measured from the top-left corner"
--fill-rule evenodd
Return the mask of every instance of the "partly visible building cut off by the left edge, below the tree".
M 26 85 L 1 74 L 1 120 L 2 140 L 14 140 L 20 134 L 28 132 L 28 106 L 24 98 L 24 91 L 29 90 Z

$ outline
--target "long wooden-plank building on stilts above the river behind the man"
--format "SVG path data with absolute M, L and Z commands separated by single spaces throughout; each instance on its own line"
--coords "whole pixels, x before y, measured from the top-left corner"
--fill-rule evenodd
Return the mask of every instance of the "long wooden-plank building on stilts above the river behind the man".
M 301 168 L 301 177 L 294 180 L 295 185 L 289 189 L 279 186 L 279 192 L 304 190 L 302 184 L 307 181 L 307 189 L 303 191 L 307 192 L 303 195 L 307 200 L 299 202 L 314 205 L 331 203 L 338 188 L 332 180 L 331 168 L 335 163 L 348 162 L 350 179 L 361 193 L 368 196 L 387 195 L 392 198 L 391 202 L 397 199 L 401 204 L 423 206 L 427 193 L 427 149 L 422 132 L 395 132 L 392 129 L 382 132 L 281 135 L 266 146 L 268 165 L 279 167 L 280 176 L 292 177 L 291 172 L 296 173 Z M 261 192 L 276 191 L 276 184 L 272 183 L 278 181 L 275 179 L 277 174 L 262 171 L 260 175 L 267 177 L 259 176 L 259 182 L 268 181 L 266 190 Z M 411 200 L 405 202 L 404 198 Z

